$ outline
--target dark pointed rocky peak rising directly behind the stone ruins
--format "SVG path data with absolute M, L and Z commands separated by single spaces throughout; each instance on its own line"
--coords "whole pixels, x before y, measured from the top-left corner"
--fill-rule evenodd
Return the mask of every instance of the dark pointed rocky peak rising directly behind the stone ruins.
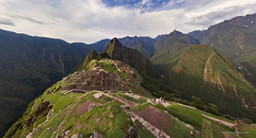
M 104 52 L 108 53 L 113 60 L 127 63 L 146 75 L 150 75 L 154 78 L 158 77 L 154 65 L 145 58 L 142 52 L 122 46 L 122 43 L 116 38 L 110 41 Z

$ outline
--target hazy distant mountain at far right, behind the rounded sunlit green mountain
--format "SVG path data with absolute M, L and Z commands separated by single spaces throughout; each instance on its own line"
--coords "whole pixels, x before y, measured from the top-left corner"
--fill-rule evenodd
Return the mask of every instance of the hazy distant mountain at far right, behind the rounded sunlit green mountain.
M 227 55 L 241 72 L 249 72 L 246 77 L 256 85 L 256 14 L 234 17 L 205 30 L 198 39 L 202 44 L 214 46 Z

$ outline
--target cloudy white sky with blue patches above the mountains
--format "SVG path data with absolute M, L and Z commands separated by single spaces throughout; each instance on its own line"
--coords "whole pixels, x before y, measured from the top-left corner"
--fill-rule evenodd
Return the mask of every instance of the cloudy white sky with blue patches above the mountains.
M 255 0 L 0 0 L 0 29 L 92 43 L 188 33 L 256 13 Z

